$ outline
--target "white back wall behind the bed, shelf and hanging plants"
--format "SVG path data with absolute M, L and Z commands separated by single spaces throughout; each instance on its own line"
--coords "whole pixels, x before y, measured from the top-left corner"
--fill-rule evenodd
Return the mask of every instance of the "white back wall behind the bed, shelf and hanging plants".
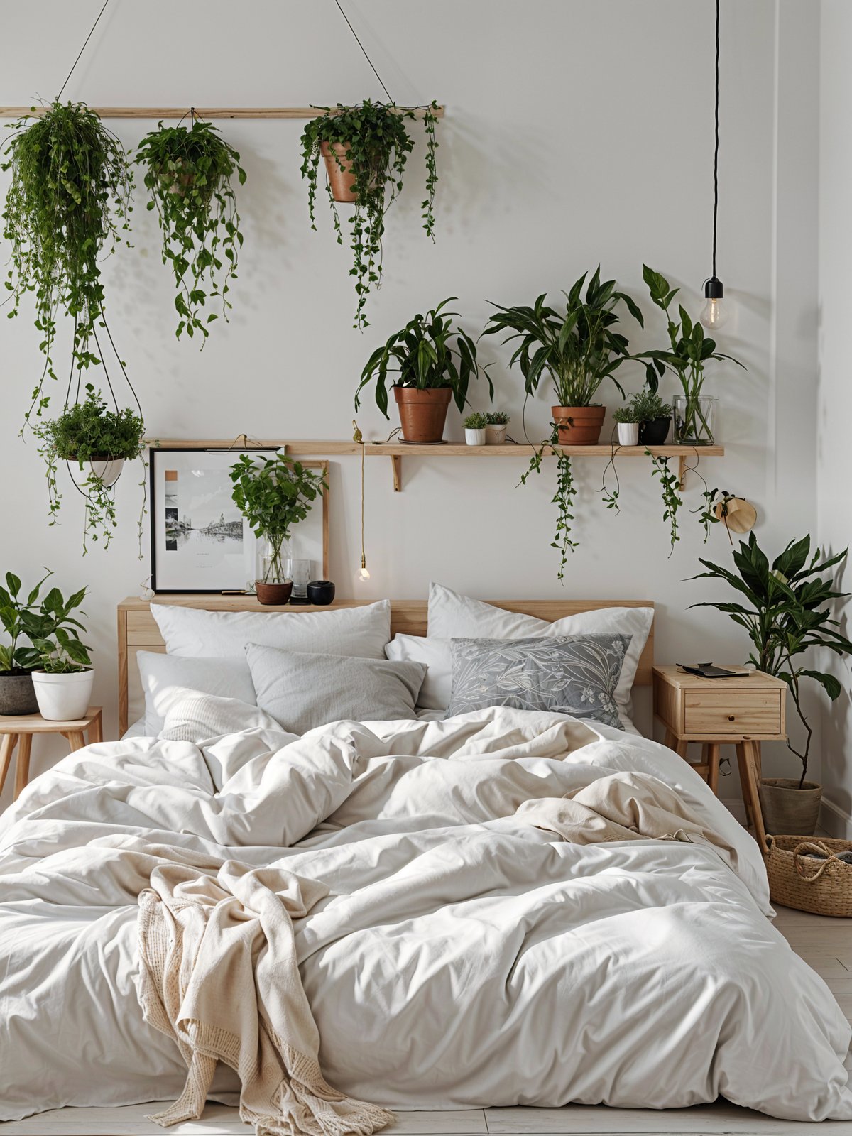
M 0 102 L 49 98 L 94 6 L 43 0 L 1 7 Z M 239 18 L 235 11 L 226 0 L 110 6 L 67 94 L 94 106 L 286 106 L 379 93 L 331 5 L 256 0 L 240 6 Z M 543 291 L 556 294 L 601 261 L 646 309 L 651 332 L 635 343 L 651 345 L 661 341 L 662 327 L 644 298 L 645 260 L 680 285 L 687 307 L 698 311 L 710 273 L 710 0 L 433 0 L 427 7 L 350 0 L 348 11 L 398 101 L 436 98 L 446 105 L 437 243 L 431 245 L 418 227 L 418 145 L 410 184 L 389 217 L 386 278 L 370 304 L 373 325 L 359 335 L 351 328 L 348 254 L 334 243 L 323 209 L 319 232 L 308 224 L 300 125 L 219 124 L 249 174 L 240 197 L 245 247 L 231 324 L 214 327 L 203 353 L 175 341 L 170 281 L 153 217 L 143 208 L 134 214 L 135 248 L 105 269 L 110 323 L 154 436 L 348 437 L 368 353 L 416 310 L 446 295 L 458 295 L 465 324 L 476 334 L 488 312 L 486 299 L 517 303 Z M 807 354 L 813 335 L 809 281 L 816 240 L 810 251 L 794 247 L 790 231 L 796 211 L 816 215 L 793 158 L 799 135 L 812 133 L 815 120 L 808 117 L 817 74 L 813 26 L 792 0 L 724 3 L 719 273 L 735 316 L 720 346 L 738 356 L 747 373 L 721 366 L 708 381 L 722 400 L 728 452 L 702 468 L 711 486 L 755 502 L 759 535 L 770 549 L 803 531 L 816 508 L 813 408 L 803 398 L 791 401 L 801 393 L 801 365 L 787 366 L 791 351 Z M 797 58 L 790 60 L 784 47 L 796 40 Z M 793 92 L 801 101 L 790 98 Z M 110 125 L 130 145 L 152 124 Z M 792 149 L 784 150 L 785 142 Z M 3 179 L 0 192 L 5 187 Z M 27 578 L 45 563 L 66 588 L 89 584 L 95 693 L 109 709 L 109 736 L 115 604 L 149 573 L 135 559 L 137 491 L 133 477 L 123 477 L 122 529 L 107 553 L 95 549 L 81 558 L 82 518 L 72 493 L 61 527 L 48 528 L 37 454 L 17 438 L 40 367 L 36 333 L 22 318 L 3 323 L 0 334 L 2 563 Z M 483 350 L 495 360 L 498 403 L 515 416 L 517 436 L 519 378 L 507 371 L 508 353 L 493 339 Z M 625 377 L 636 390 L 643 376 L 637 369 Z M 602 393 L 615 406 L 615 391 Z M 531 436 L 543 434 L 549 404 L 543 398 L 531 406 Z M 391 428 L 375 407 L 359 419 L 368 436 Z M 461 436 L 454 411 L 448 433 Z M 721 594 L 685 577 L 701 554 L 727 559 L 725 533 L 715 528 L 702 549 L 698 520 L 684 510 L 682 541 L 667 559 L 649 466 L 621 462 L 623 510 L 613 517 L 596 493 L 602 462 L 575 465 L 580 549 L 562 592 L 549 548 L 552 471 L 516 488 L 520 459 L 408 459 L 404 492 L 393 494 L 386 462 L 369 461 L 373 578 L 364 586 L 354 583 L 358 463 L 335 462 L 331 575 L 341 596 L 420 598 L 434 578 L 484 598 L 646 598 L 658 604 L 659 660 L 743 659 L 744 638 L 722 616 L 687 610 Z M 693 477 L 686 507 L 696 508 L 699 500 Z M 48 754 L 39 747 L 36 770 Z M 782 754 L 778 770 L 784 762 Z M 724 792 L 733 795 L 734 786 L 727 782 Z

